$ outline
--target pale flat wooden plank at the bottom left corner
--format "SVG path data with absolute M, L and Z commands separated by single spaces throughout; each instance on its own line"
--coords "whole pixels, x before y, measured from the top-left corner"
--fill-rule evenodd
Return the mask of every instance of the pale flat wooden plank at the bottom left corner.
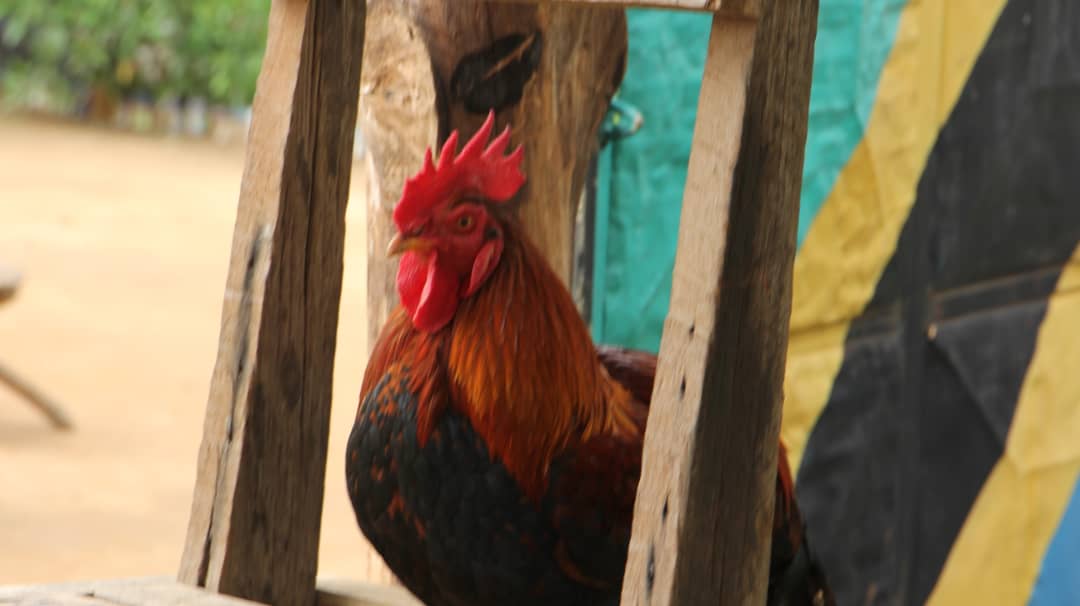
M 253 606 L 166 577 L 0 587 L 0 604 L 18 606 Z

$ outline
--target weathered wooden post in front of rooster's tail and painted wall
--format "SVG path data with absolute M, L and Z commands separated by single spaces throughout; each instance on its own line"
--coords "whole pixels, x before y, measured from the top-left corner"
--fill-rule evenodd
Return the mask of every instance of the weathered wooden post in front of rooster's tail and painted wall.
M 816 15 L 714 18 L 623 604 L 765 603 Z

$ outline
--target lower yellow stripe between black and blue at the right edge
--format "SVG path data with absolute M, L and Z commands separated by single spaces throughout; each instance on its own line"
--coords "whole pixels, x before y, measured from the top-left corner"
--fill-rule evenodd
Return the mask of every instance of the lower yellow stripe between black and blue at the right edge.
M 1026 604 L 1080 477 L 1080 247 L 1039 327 L 1004 456 L 968 514 L 929 604 Z

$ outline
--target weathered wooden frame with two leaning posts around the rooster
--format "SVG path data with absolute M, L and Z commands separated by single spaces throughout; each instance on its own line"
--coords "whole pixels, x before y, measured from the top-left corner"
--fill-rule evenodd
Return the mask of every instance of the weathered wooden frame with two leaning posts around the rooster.
M 762 604 L 818 1 L 576 3 L 715 12 L 622 603 Z M 316 602 L 367 5 L 272 3 L 179 573 L 186 585 Z M 394 590 L 347 593 L 355 591 L 318 601 L 410 603 Z M 243 603 L 167 579 L 13 588 L 0 601 Z

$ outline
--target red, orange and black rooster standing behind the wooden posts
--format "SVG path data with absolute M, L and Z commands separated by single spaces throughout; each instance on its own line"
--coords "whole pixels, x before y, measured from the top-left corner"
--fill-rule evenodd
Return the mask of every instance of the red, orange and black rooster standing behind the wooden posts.
M 495 116 L 406 181 L 394 310 L 347 446 L 359 525 L 431 606 L 616 605 L 654 355 L 596 347 L 503 207 L 523 151 Z M 485 147 L 486 146 L 486 147 Z M 781 445 L 771 605 L 832 604 Z

